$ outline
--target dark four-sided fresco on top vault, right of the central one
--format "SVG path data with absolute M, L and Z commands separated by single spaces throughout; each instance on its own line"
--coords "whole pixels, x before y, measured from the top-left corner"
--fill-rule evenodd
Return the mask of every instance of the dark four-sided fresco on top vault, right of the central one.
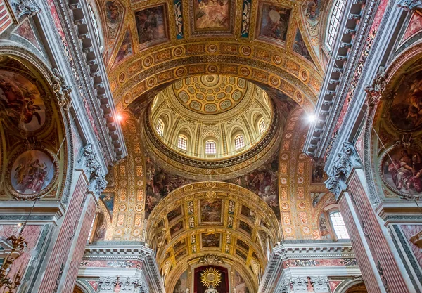
M 286 41 L 290 9 L 273 4 L 261 4 L 260 37 Z

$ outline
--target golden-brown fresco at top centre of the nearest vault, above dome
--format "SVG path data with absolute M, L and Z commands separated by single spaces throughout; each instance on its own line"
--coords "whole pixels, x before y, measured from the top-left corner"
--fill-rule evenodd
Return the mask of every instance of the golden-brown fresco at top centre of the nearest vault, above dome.
M 231 0 L 193 1 L 196 30 L 228 30 L 230 25 Z

